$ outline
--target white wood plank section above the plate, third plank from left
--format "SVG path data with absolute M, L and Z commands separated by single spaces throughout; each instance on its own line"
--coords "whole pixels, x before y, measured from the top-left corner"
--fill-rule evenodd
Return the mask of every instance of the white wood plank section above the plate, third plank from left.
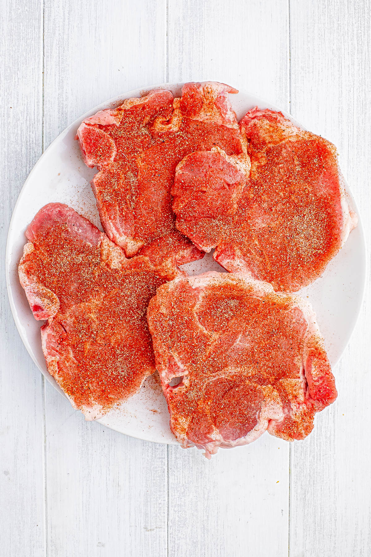
M 288 109 L 288 7 L 288 0 L 169 0 L 168 81 L 222 81 Z

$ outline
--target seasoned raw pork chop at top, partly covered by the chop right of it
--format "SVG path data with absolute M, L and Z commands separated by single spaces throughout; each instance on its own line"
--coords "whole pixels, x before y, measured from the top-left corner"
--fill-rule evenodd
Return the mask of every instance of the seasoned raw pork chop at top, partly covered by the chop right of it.
M 228 155 L 245 146 L 227 98 L 235 89 L 214 82 L 184 85 L 181 99 L 156 89 L 98 112 L 77 131 L 102 226 L 127 256 L 148 248 L 159 260 L 187 263 L 203 254 L 175 228 L 170 190 L 187 154 L 213 146 Z M 166 252 L 164 252 L 166 246 Z

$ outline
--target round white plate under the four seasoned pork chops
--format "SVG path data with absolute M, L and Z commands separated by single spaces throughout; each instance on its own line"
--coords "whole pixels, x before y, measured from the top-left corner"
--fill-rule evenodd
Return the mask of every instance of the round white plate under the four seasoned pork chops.
M 180 96 L 181 86 L 182 84 L 179 83 L 154 87 L 170 89 L 174 95 Z M 29 173 L 19 194 L 16 207 L 14 207 L 6 252 L 7 289 L 14 321 L 34 363 L 63 396 L 65 395 L 55 379 L 47 371 L 41 350 L 41 324 L 33 319 L 26 295 L 18 280 L 18 262 L 22 256 L 23 245 L 26 243 L 24 231 L 37 211 L 46 203 L 51 202 L 67 203 L 102 230 L 95 198 L 90 188 L 90 180 L 97 170 L 87 168 L 82 162 L 80 148 L 75 141 L 76 130 L 83 119 L 95 114 L 98 110 L 118 106 L 123 99 L 139 97 L 144 92 L 136 89 L 103 102 L 63 131 Z M 255 105 L 260 108 L 279 110 L 259 97 L 245 92 L 230 95 L 230 100 L 238 119 Z M 294 124 L 300 125 L 290 115 L 286 114 L 286 117 L 290 118 Z M 352 196 L 350 195 L 350 197 Z M 353 198 L 352 204 L 353 209 L 358 213 Z M 359 220 L 358 227 L 350 233 L 344 247 L 329 263 L 323 276 L 314 284 L 300 291 L 300 295 L 309 299 L 316 311 L 332 365 L 342 355 L 360 311 L 365 285 L 365 265 L 365 240 L 362 223 Z M 210 270 L 225 272 L 212 259 L 211 254 L 206 255 L 201 261 L 187 263 L 182 268 L 191 275 L 198 275 Z M 148 378 L 140 392 L 128 402 L 106 414 L 99 422 L 132 437 L 159 443 L 176 443 L 175 437 L 170 432 L 169 413 L 162 395 L 159 378 L 156 378 L 156 375 Z

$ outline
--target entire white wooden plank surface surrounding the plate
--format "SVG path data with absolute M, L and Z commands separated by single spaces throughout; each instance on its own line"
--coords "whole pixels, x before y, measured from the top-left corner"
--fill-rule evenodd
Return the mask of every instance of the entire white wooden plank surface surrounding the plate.
M 369 238 L 369 0 L 3 0 L 0 26 L 2 261 L 19 189 L 60 131 L 120 91 L 190 79 L 334 141 Z M 371 555 L 369 286 L 311 436 L 209 462 L 86 423 L 29 359 L 1 280 L 1 556 Z

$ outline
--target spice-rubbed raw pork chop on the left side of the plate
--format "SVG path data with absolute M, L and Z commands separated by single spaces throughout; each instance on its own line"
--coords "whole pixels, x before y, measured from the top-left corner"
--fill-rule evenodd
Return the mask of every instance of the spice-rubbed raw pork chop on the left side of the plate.
M 100 418 L 155 371 L 146 308 L 166 277 L 61 203 L 43 207 L 26 237 L 19 278 L 35 319 L 48 320 L 48 371 L 86 419 Z

